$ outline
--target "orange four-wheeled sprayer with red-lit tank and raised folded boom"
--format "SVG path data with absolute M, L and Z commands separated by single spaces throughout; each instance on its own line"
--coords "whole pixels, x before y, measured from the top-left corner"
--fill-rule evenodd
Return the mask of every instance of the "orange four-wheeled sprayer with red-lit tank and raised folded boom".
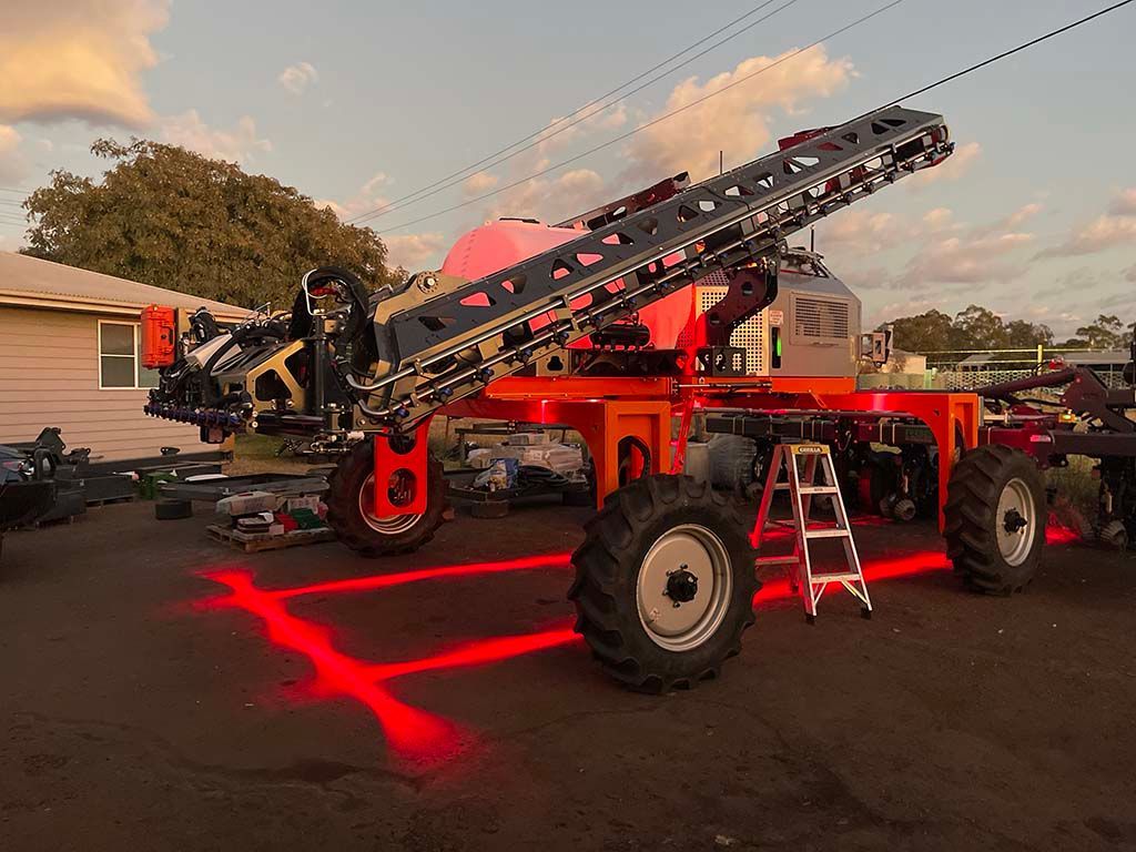
M 1013 591 L 1044 541 L 1038 457 L 980 446 L 976 394 L 858 393 L 858 360 L 886 361 L 889 334 L 861 335 L 854 294 L 786 243 L 953 148 L 941 116 L 888 107 L 559 226 L 487 224 L 442 269 L 374 293 L 326 267 L 303 276 L 291 311 L 237 326 L 148 309 L 145 366 L 161 379 L 145 411 L 208 442 L 248 431 L 339 458 L 328 523 L 370 556 L 421 546 L 441 524 L 433 415 L 576 429 L 602 504 L 574 557 L 578 628 L 638 688 L 713 676 L 752 623 L 754 507 L 684 475 L 695 411 L 755 448 L 833 444 L 877 508 L 938 515 L 970 585 Z M 871 444 L 900 463 L 888 470 Z M 872 466 L 889 475 L 874 484 Z M 660 593 L 666 611 L 650 603 Z

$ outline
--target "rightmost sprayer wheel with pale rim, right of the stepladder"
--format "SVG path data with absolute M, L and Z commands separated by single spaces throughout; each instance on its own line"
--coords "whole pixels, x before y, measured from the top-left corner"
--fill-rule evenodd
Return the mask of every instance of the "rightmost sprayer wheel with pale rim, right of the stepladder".
M 1026 453 L 987 444 L 955 465 L 947 486 L 946 553 L 971 588 L 1020 592 L 1045 544 L 1045 484 Z

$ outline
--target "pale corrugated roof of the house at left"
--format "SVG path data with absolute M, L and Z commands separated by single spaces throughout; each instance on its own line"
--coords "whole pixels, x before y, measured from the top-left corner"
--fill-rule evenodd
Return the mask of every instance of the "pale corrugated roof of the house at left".
M 77 309 L 131 308 L 142 310 L 148 304 L 164 304 L 170 308 L 206 307 L 225 318 L 243 318 L 248 308 L 237 308 L 224 302 L 175 290 L 165 290 L 136 281 L 116 278 L 112 275 L 92 273 L 73 266 L 40 260 L 27 254 L 0 251 L 0 302 L 16 303 L 26 299 L 50 299 L 65 302 Z

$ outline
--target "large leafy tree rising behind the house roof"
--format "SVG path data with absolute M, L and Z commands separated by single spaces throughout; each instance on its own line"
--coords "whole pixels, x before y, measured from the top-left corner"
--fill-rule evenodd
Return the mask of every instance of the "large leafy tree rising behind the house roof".
M 291 304 L 317 266 L 352 269 L 371 289 L 400 274 L 370 228 L 270 177 L 145 140 L 91 151 L 114 162 L 101 183 L 58 170 L 24 202 L 25 253 L 245 308 Z

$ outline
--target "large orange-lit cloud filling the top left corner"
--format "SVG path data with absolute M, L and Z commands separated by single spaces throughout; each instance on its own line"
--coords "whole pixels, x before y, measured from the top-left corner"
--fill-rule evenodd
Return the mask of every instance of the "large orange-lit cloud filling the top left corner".
M 6 0 L 0 26 L 0 122 L 144 127 L 153 118 L 143 72 L 166 0 Z

